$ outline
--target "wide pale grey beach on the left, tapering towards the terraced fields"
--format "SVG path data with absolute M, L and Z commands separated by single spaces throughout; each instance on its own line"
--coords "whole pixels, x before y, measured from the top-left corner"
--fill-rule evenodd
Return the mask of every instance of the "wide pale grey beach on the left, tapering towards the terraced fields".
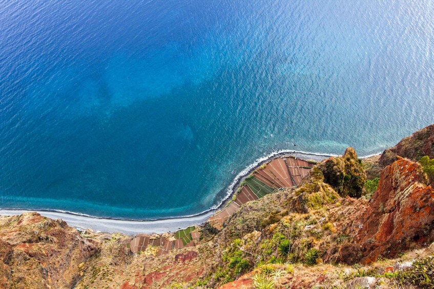
M 19 215 L 24 212 L 34 212 L 32 210 L 0 210 L 0 215 Z M 137 233 L 151 234 L 174 232 L 179 228 L 187 228 L 191 225 L 204 223 L 214 211 L 202 215 L 195 215 L 183 218 L 173 219 L 158 219 L 158 220 L 121 220 L 109 218 L 97 218 L 91 216 L 83 216 L 78 214 L 70 214 L 54 211 L 36 211 L 39 214 L 51 219 L 63 219 L 71 227 L 80 229 L 92 229 L 100 232 L 121 232 L 127 235 L 135 235 Z

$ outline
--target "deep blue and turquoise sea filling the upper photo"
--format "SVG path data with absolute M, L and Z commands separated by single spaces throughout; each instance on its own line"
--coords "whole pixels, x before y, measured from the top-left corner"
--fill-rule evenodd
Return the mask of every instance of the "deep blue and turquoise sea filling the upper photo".
M 273 149 L 433 123 L 433 69 L 431 2 L 0 0 L 0 207 L 199 213 Z

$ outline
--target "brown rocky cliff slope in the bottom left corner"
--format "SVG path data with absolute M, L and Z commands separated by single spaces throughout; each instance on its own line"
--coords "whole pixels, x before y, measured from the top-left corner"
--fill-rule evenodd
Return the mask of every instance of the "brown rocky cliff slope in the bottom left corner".
M 63 220 L 37 213 L 0 217 L 0 287 L 67 288 L 94 244 Z

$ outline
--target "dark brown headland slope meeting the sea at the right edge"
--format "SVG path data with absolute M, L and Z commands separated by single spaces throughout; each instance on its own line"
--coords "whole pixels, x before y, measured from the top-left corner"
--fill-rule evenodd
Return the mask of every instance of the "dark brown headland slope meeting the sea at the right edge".
M 396 161 L 396 157 L 419 160 L 424 155 L 434 158 L 434 124 L 416 131 L 402 139 L 396 146 L 386 149 L 380 157 L 380 165 L 384 168 Z

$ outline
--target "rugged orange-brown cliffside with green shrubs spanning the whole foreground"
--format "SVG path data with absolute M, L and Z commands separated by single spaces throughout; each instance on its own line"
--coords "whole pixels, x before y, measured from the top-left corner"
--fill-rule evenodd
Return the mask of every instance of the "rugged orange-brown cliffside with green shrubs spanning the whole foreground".
M 433 135 L 425 128 L 380 158 L 359 160 L 348 148 L 310 170 L 290 162 L 291 174 L 308 173 L 297 187 L 245 202 L 218 229 L 197 226 L 195 247 L 164 254 L 166 243 L 134 254 L 130 236 L 79 234 L 36 213 L 0 217 L 0 287 L 433 288 L 434 191 L 416 157 L 432 152 Z M 273 164 L 258 179 L 292 184 Z M 266 179 L 271 174 L 279 177 Z M 376 176 L 369 197 L 364 182 Z M 175 242 L 168 233 L 149 239 L 160 237 Z

